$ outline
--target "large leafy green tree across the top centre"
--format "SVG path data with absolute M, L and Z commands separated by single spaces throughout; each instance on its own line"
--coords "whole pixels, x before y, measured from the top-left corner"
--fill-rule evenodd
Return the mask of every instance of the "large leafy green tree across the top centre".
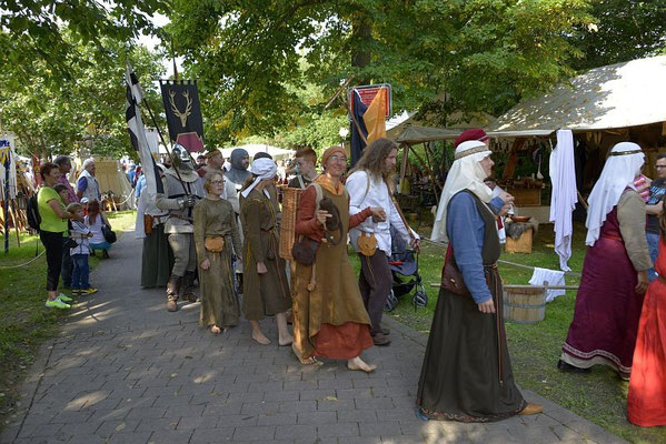
M 390 82 L 396 109 L 505 110 L 571 73 L 581 53 L 570 36 L 592 22 L 587 10 L 588 0 L 175 0 L 168 31 L 199 79 L 207 138 L 242 139 L 295 124 L 289 85 L 330 95 L 350 75 Z

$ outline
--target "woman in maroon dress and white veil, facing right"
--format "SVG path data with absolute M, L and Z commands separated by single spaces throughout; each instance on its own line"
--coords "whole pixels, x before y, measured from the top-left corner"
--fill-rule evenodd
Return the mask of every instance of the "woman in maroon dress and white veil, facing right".
M 645 203 L 634 186 L 644 163 L 636 143 L 616 144 L 592 190 L 585 240 L 590 248 L 559 370 L 580 373 L 605 364 L 629 379 L 646 271 L 652 266 Z

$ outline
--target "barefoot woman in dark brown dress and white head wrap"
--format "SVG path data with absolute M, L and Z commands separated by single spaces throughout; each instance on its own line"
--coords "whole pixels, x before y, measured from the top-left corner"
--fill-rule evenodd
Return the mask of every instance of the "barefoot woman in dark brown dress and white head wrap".
M 286 312 L 291 307 L 291 296 L 285 261 L 278 256 L 278 214 L 271 202 L 268 188 L 272 185 L 277 172 L 270 159 L 258 159 L 250 168 L 241 192 L 240 220 L 245 236 L 242 312 L 250 321 L 252 339 L 260 344 L 270 344 L 259 325 L 265 316 L 276 316 L 278 343 L 289 345 L 294 341 L 287 327 Z

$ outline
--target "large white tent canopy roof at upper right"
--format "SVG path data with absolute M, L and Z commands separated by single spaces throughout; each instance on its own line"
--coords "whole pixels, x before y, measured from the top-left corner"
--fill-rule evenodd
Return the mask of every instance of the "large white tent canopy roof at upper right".
M 599 131 L 664 122 L 665 79 L 666 56 L 596 68 L 518 103 L 486 131 L 543 135 L 560 128 Z

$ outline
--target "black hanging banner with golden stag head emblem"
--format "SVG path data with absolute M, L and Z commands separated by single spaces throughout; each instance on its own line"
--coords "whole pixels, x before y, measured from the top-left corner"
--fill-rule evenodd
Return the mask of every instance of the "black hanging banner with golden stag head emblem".
M 190 152 L 203 151 L 203 120 L 197 81 L 160 80 L 160 88 L 171 143 L 179 143 Z

